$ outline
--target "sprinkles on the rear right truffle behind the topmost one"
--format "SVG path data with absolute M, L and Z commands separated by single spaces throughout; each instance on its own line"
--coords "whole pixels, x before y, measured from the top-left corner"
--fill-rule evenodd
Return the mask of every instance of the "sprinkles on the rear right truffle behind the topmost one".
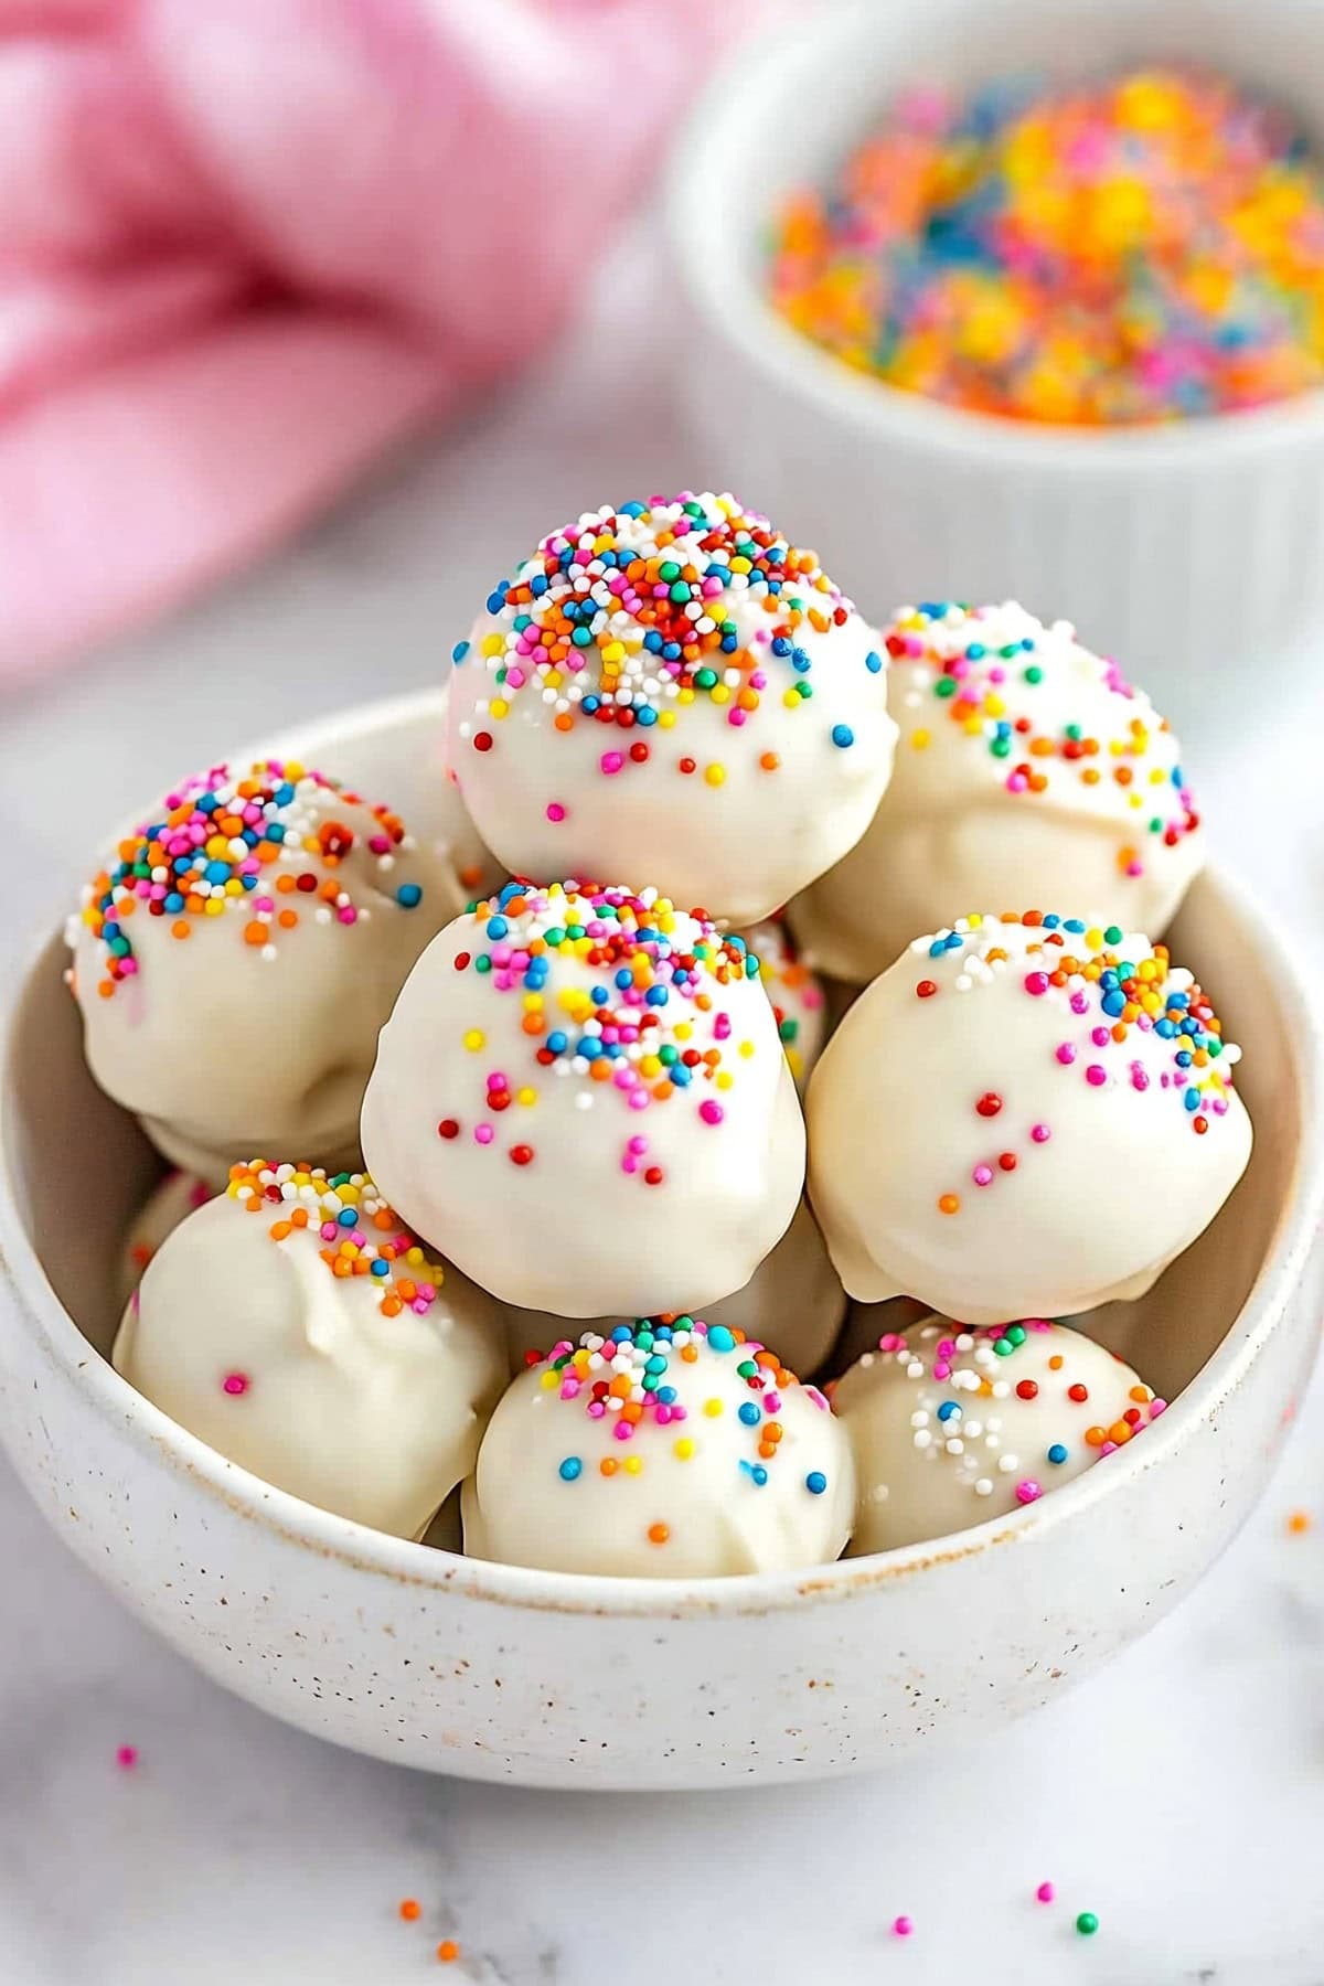
M 1082 647 L 1066 622 L 1044 628 L 1014 600 L 979 608 L 931 600 L 897 614 L 885 639 L 903 671 L 903 693 L 893 701 L 901 703 L 911 751 L 929 751 L 935 729 L 955 725 L 989 755 L 1010 794 L 1052 798 L 1072 782 L 1100 806 L 1112 798 L 1133 824 L 1118 850 L 1118 868 L 1129 878 L 1145 874 L 1145 848 L 1175 848 L 1199 828 L 1167 721 L 1137 697 L 1116 661 Z M 1092 699 L 1090 721 L 1040 715 L 1044 703 L 1060 705 L 1066 653 L 1088 661 L 1108 693 L 1104 735 L 1100 699 Z

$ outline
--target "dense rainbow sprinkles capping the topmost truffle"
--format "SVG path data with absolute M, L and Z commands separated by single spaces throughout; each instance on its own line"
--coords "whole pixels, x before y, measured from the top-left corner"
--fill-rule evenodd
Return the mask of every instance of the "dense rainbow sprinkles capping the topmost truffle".
M 492 695 L 464 723 L 472 751 L 500 743 L 500 725 L 520 695 L 540 697 L 552 727 L 601 725 L 597 771 L 619 779 L 667 753 L 667 735 L 699 699 L 725 713 L 732 731 L 758 719 L 766 699 L 812 721 L 814 655 L 806 638 L 830 636 L 852 618 L 814 552 L 788 544 L 764 516 L 734 496 L 651 496 L 586 512 L 554 530 L 514 580 L 498 580 L 486 612 L 494 626 L 453 649 L 457 667 L 480 667 Z M 863 657 L 881 675 L 883 657 Z M 838 751 L 856 743 L 836 723 Z M 667 757 L 671 757 L 667 753 Z M 723 761 L 671 759 L 709 786 L 727 779 Z M 758 757 L 776 773 L 776 751 Z M 570 818 L 566 800 L 546 808 Z

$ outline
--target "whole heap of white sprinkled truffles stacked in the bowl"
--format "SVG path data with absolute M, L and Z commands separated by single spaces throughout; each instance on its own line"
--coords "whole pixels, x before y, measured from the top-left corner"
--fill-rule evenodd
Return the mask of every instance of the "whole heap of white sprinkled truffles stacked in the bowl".
M 1167 922 L 1199 822 L 1110 663 L 1014 606 L 875 634 L 683 495 L 502 578 L 439 723 L 417 838 L 216 767 L 87 892 L 89 1063 L 193 1168 L 131 1235 L 141 1392 L 341 1517 L 423 1537 L 464 1482 L 472 1555 L 639 1577 L 959 1529 L 1161 1412 L 1050 1319 L 1147 1289 L 1251 1128 L 1112 922 Z M 887 967 L 832 1039 L 818 957 Z M 935 1315 L 832 1382 L 848 1295 Z

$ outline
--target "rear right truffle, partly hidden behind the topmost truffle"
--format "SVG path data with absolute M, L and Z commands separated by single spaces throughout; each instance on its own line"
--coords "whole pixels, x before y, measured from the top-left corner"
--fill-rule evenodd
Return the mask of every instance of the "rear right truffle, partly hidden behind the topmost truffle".
M 885 645 L 897 761 L 863 840 L 792 906 L 814 963 L 873 979 L 969 904 L 1161 937 L 1205 836 L 1149 697 L 1014 600 L 905 608 Z

